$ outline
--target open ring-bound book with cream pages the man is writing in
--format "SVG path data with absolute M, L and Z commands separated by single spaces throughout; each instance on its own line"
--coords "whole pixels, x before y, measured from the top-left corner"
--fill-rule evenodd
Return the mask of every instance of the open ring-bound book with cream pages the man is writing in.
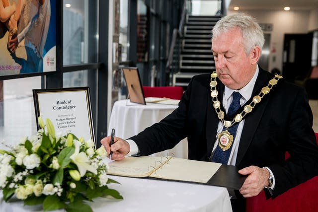
M 235 166 L 176 157 L 126 157 L 108 162 L 107 174 L 127 177 L 151 177 L 173 181 L 194 182 L 239 189 L 244 177 Z M 222 176 L 219 176 L 218 173 Z

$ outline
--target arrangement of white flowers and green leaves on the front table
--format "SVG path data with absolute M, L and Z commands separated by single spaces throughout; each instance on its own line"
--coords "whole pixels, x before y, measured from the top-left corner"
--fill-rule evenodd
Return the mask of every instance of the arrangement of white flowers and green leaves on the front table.
M 55 134 L 52 122 L 38 118 L 40 130 L 10 150 L 0 150 L 0 189 L 7 202 L 13 195 L 24 205 L 43 204 L 44 211 L 92 212 L 85 201 L 111 196 L 123 199 L 108 183 L 104 147 L 91 140 Z

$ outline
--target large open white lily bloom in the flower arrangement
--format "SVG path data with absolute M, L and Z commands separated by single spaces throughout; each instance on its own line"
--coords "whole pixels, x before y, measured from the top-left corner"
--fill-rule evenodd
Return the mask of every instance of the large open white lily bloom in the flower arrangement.
M 85 152 L 79 152 L 79 147 L 81 143 L 74 140 L 75 152 L 70 156 L 72 161 L 78 166 L 80 176 L 84 176 L 86 171 L 97 174 L 97 169 L 94 166 L 90 165 L 90 161 Z

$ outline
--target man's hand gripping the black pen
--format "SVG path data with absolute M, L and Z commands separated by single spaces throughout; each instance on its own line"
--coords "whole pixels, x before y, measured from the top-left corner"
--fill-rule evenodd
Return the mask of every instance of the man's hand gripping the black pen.
M 110 136 L 103 138 L 101 144 L 104 146 L 108 156 L 110 154 L 110 149 L 113 151 L 111 156 L 112 160 L 122 160 L 125 158 L 125 155 L 130 151 L 130 145 L 127 141 L 121 138 L 114 138 L 114 144 L 110 145 Z

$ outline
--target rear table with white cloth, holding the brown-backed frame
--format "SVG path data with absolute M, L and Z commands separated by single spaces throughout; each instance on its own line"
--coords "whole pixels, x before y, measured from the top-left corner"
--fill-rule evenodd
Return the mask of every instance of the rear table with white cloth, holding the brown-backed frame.
M 147 127 L 159 122 L 175 110 L 177 105 L 147 103 L 147 105 L 132 103 L 129 100 L 119 100 L 114 103 L 111 111 L 108 133 L 115 129 L 115 136 L 128 139 L 145 130 Z M 188 158 L 187 139 L 180 141 L 170 150 L 153 154 L 154 156 L 166 156 L 172 152 L 175 157 Z

